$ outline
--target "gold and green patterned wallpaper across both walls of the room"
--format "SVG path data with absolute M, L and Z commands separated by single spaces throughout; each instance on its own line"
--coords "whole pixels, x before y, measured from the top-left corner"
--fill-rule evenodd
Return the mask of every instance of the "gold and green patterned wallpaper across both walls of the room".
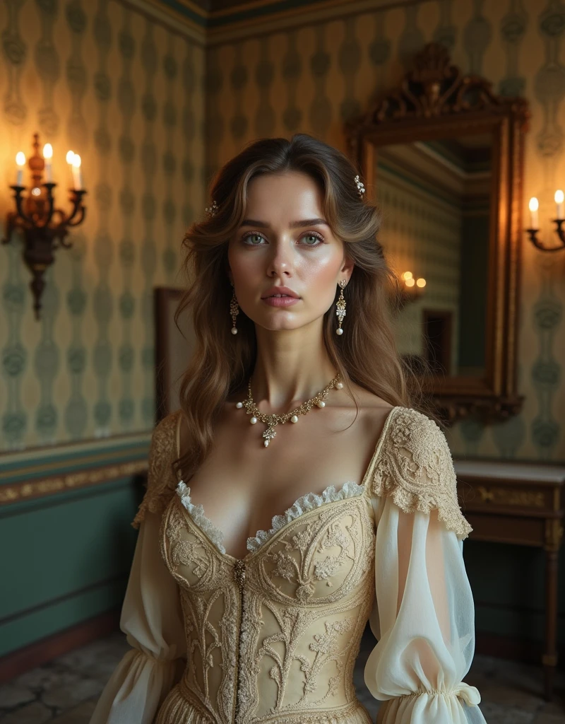
M 208 30 L 205 63 L 189 22 L 156 24 L 142 0 L 131 7 L 0 3 L 4 188 L 14 152 L 29 151 L 39 130 L 54 144 L 56 177 L 74 148 L 89 189 L 88 223 L 48 275 L 41 323 L 17 243 L 0 248 L 0 448 L 150 428 L 150 290 L 174 282 L 182 227 L 205 205 L 203 180 L 260 135 L 304 130 L 344 148 L 344 121 L 430 40 L 498 92 L 529 98 L 524 209 L 540 198 L 548 237 L 553 192 L 565 183 L 562 0 L 320 1 Z M 0 195 L 0 223 L 8 201 Z M 385 245 L 386 235 L 385 224 Z M 565 253 L 543 255 L 524 239 L 523 264 L 524 409 L 505 424 L 457 425 L 455 454 L 565 460 Z

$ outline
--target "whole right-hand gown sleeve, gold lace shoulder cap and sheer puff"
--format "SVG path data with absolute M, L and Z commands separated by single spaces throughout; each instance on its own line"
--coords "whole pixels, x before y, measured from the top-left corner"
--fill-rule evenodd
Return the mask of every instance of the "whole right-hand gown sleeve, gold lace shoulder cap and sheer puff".
M 462 681 L 475 650 L 475 610 L 464 568 L 472 530 L 457 502 L 441 429 L 398 408 L 370 481 L 375 510 L 378 643 L 365 684 L 383 701 L 378 724 L 485 724 L 480 694 Z

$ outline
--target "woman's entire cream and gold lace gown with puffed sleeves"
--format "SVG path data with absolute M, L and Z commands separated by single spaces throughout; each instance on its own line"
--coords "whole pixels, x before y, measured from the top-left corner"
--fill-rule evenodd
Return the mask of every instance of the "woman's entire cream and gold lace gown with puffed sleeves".
M 91 724 L 367 724 L 352 683 L 367 620 L 378 723 L 485 722 L 462 681 L 472 529 L 433 421 L 393 408 L 361 484 L 301 497 L 239 560 L 171 473 L 179 420 L 153 432 L 121 619 L 132 649 Z

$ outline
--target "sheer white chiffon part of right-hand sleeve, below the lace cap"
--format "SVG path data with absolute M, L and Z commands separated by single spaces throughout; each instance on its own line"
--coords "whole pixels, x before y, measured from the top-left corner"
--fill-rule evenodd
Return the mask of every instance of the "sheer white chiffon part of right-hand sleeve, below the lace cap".
M 373 499 L 378 643 L 365 683 L 382 700 L 378 724 L 485 724 L 479 691 L 462 681 L 475 649 L 463 542 L 431 513 Z

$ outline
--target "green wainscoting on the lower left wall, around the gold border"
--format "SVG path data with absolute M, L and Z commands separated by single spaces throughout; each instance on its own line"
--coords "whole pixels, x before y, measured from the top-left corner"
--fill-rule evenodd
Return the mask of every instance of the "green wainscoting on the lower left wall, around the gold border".
M 1 456 L 0 496 L 6 489 L 37 494 L 34 483 L 72 480 L 69 472 L 101 476 L 119 470 L 117 461 L 143 467 L 148 435 L 138 438 L 35 459 L 27 452 L 19 463 Z M 119 476 L 0 505 L 0 656 L 122 604 L 137 539 L 130 523 L 143 495 L 140 480 Z

